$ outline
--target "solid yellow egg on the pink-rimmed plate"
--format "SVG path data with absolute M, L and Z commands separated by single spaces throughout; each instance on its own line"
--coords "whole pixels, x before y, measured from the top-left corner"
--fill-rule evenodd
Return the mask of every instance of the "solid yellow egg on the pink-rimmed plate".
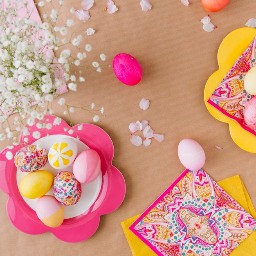
M 25 198 L 40 198 L 45 195 L 52 187 L 53 175 L 44 170 L 28 173 L 20 181 L 20 193 Z

